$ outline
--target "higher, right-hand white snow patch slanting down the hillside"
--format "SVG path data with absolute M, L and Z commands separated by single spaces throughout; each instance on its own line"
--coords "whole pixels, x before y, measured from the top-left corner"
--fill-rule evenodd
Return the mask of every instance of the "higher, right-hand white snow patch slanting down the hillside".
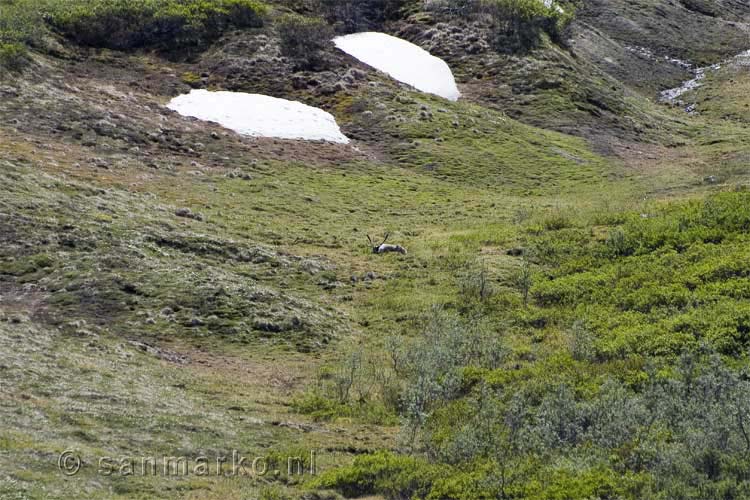
M 461 97 L 448 64 L 406 40 L 385 33 L 366 32 L 339 36 L 333 39 L 333 43 L 363 63 L 417 90 L 451 101 Z

